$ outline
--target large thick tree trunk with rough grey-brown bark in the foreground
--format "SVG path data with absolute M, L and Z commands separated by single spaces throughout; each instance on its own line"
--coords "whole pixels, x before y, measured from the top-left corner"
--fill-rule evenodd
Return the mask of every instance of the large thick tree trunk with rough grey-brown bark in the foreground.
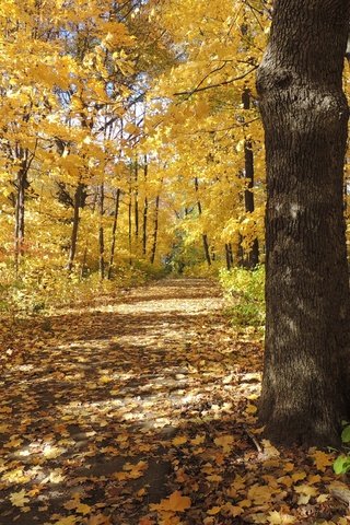
M 350 411 L 341 86 L 349 16 L 349 0 L 276 0 L 258 70 L 268 191 L 259 416 L 277 443 L 337 443 Z

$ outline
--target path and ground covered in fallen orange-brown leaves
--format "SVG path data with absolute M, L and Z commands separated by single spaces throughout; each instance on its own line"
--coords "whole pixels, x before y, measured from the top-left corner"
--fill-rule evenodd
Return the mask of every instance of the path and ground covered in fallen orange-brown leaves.
M 223 306 L 165 280 L 2 326 L 0 524 L 349 524 L 334 455 L 261 439 Z

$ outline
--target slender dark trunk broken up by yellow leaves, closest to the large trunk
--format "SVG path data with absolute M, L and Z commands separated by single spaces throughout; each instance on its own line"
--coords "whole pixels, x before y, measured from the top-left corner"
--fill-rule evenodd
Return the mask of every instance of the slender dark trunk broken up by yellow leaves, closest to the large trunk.
M 245 89 L 242 95 L 243 108 L 250 109 L 250 92 Z M 244 205 L 247 213 L 253 213 L 254 206 L 254 153 L 252 139 L 244 141 L 244 177 L 248 180 L 247 189 L 244 191 Z M 243 259 L 243 266 L 248 269 L 255 268 L 259 264 L 259 244 L 258 240 L 253 241 L 252 249 Z

